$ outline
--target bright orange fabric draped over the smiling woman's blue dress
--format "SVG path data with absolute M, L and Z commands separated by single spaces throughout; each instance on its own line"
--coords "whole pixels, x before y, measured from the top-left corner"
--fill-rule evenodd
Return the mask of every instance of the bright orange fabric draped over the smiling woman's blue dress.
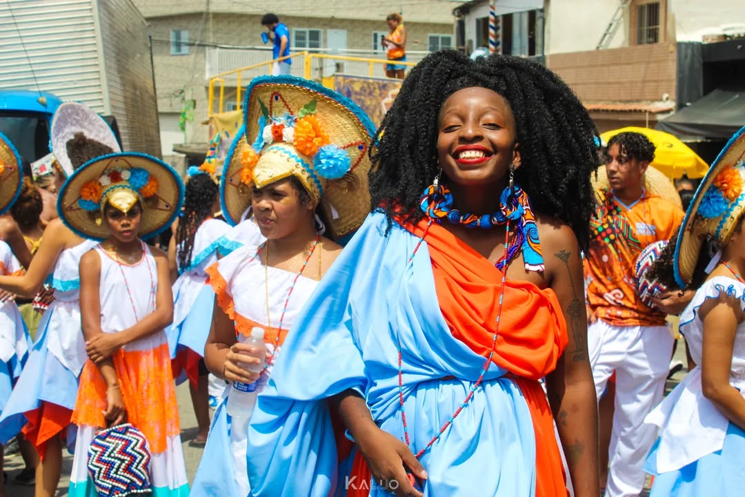
M 422 236 L 427 219 L 405 228 Z M 479 355 L 492 347 L 501 273 L 484 256 L 439 224 L 425 237 L 440 310 L 454 338 Z M 537 382 L 551 373 L 568 341 L 566 321 L 551 289 L 505 282 L 497 345 L 492 360 L 513 373 L 536 436 L 536 497 L 566 496 L 564 469 L 545 393 Z

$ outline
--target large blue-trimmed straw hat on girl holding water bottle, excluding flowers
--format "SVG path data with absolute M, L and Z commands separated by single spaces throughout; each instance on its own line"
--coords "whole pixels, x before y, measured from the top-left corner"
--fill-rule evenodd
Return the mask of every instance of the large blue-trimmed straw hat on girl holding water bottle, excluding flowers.
M 262 124 L 270 118 L 302 115 L 315 102 L 314 116 L 329 136 L 330 145 L 349 155 L 351 168 L 337 179 L 324 179 L 311 157 L 304 156 L 290 142 L 273 142 L 260 150 L 254 170 L 254 184 L 263 188 L 285 177 L 297 177 L 317 200 L 336 237 L 361 226 L 370 213 L 370 171 L 368 150 L 375 125 L 364 110 L 349 98 L 313 81 L 293 76 L 257 77 L 246 90 L 244 132 L 239 132 L 225 158 L 221 180 L 221 204 L 226 220 L 238 224 L 251 204 L 251 186 L 241 181 L 241 157 L 247 147 L 255 147 Z

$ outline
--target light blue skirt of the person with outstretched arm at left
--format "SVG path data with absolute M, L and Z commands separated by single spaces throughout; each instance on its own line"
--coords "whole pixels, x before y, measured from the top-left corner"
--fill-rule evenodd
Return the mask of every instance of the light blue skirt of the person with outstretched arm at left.
M 72 411 L 77 399 L 77 376 L 47 349 L 47 327 L 54 315 L 50 308 L 39 323 L 39 336 L 13 393 L 0 416 L 0 444 L 6 444 L 26 424 L 25 413 L 41 406 L 41 401 L 51 402 Z

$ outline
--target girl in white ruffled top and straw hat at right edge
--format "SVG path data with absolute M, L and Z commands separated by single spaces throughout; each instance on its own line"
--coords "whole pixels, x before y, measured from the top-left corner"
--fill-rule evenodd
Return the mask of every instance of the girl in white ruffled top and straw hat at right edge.
M 647 416 L 659 427 L 645 465 L 652 497 L 745 491 L 744 212 L 745 127 L 711 165 L 678 237 L 651 269 L 670 288 L 696 289 L 680 332 L 698 364 Z

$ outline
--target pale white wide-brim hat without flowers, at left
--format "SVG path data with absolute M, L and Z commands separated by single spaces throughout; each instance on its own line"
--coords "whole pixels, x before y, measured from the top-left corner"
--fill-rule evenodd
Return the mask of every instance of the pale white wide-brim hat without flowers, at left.
M 115 153 L 121 152 L 119 142 L 109 124 L 100 115 L 83 104 L 65 102 L 57 107 L 49 130 L 51 151 L 65 177 L 71 177 L 75 167 L 67 155 L 67 142 L 83 133 L 86 138 L 107 145 Z

